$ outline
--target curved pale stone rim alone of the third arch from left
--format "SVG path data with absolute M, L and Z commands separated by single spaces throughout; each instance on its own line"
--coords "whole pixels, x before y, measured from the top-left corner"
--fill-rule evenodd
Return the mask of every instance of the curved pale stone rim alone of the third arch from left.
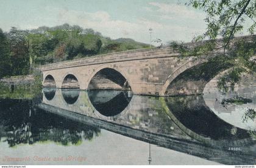
M 101 65 L 98 68 L 94 69 L 94 71 L 88 75 L 88 79 L 86 82 L 86 86 L 85 88 L 90 89 L 90 83 L 91 80 L 93 79 L 93 77 L 95 77 L 96 74 L 98 74 L 98 72 L 101 72 L 104 69 L 110 69 L 111 71 L 115 71 L 117 72 L 119 75 L 123 76 L 124 79 L 126 79 L 126 81 L 124 81 L 123 85 L 128 82 L 130 85 L 130 89 L 133 90 L 133 84 L 132 84 L 132 80 L 130 79 L 129 75 L 126 74 L 126 72 L 124 72 L 122 69 L 118 68 L 118 66 L 112 65 L 112 64 L 107 64 L 107 65 Z

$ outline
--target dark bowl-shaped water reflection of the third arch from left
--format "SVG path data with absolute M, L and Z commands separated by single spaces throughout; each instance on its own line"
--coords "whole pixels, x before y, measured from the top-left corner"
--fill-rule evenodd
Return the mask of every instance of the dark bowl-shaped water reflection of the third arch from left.
M 121 113 L 132 99 L 129 91 L 93 90 L 88 92 L 93 107 L 104 116 L 116 116 Z

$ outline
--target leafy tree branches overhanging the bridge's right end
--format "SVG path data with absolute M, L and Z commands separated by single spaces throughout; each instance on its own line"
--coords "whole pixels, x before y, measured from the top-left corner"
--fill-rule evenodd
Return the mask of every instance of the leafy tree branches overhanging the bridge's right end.
M 204 10 L 206 14 L 207 29 L 203 35 L 194 38 L 194 41 L 208 41 L 192 48 L 172 43 L 172 46 L 182 53 L 181 55 L 202 55 L 202 52 L 222 49 L 222 54 L 218 55 L 214 61 L 232 65 L 232 68 L 218 82 L 219 88 L 226 91 L 228 89 L 227 84 L 234 86 L 235 83 L 239 82 L 243 72 L 256 72 L 256 37 L 252 36 L 251 40 L 244 40 L 243 38 L 233 40 L 235 35 L 246 31 L 246 29 L 248 34 L 254 34 L 256 1 L 191 0 L 188 5 L 192 5 L 195 9 Z M 218 38 L 222 38 L 222 40 L 218 40 Z

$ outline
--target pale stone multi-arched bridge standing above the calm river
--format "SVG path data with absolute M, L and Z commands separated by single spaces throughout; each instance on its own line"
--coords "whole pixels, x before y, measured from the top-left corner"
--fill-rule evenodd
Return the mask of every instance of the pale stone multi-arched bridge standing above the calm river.
M 96 55 L 40 66 L 43 86 L 80 89 L 131 89 L 133 94 L 202 94 L 205 85 L 227 67 L 207 58 L 179 58 L 171 47 Z

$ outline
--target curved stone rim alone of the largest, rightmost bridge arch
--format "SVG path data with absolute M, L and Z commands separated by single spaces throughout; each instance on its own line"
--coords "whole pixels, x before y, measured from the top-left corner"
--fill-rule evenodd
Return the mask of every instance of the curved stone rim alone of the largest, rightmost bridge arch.
M 190 69 L 194 66 L 201 65 L 202 63 L 205 63 L 206 61 L 207 60 L 194 59 L 192 61 L 188 61 L 184 65 L 180 66 L 180 68 L 178 68 L 176 71 L 172 72 L 172 74 L 170 74 L 168 76 L 168 79 L 166 80 L 165 84 L 162 86 L 162 89 L 160 91 L 160 96 L 165 96 L 165 94 L 166 94 L 165 92 L 166 92 L 166 89 L 168 88 L 168 86 L 171 84 L 171 82 L 174 79 L 176 79 L 176 77 L 178 77 L 180 74 L 182 74 L 182 72 L 184 72 L 187 69 Z

